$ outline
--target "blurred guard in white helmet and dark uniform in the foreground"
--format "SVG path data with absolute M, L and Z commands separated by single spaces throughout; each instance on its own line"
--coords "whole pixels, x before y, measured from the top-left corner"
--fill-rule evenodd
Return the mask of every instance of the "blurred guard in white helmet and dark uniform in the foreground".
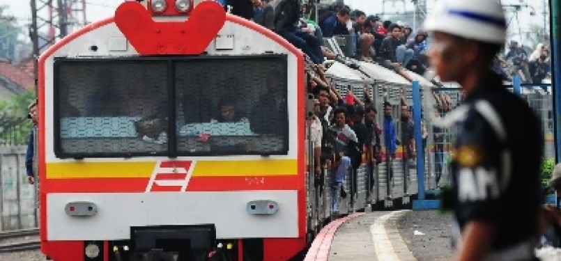
M 528 104 L 491 69 L 506 38 L 502 6 L 443 0 L 427 17 L 431 68 L 466 91 L 460 111 L 449 113 L 458 131 L 445 193 L 458 228 L 454 260 L 537 260 L 543 139 Z

